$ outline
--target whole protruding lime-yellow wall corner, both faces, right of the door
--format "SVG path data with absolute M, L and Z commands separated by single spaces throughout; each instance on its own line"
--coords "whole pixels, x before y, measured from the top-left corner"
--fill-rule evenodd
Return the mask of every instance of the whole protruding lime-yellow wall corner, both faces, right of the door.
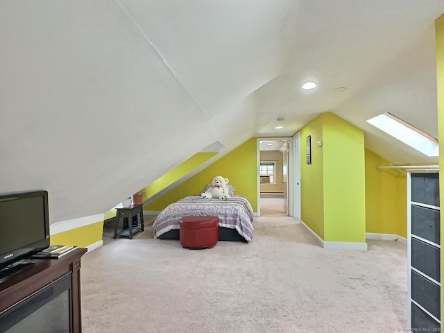
M 311 164 L 305 162 L 307 135 Z M 323 112 L 302 128 L 300 142 L 302 221 L 324 241 L 365 242 L 364 132 Z

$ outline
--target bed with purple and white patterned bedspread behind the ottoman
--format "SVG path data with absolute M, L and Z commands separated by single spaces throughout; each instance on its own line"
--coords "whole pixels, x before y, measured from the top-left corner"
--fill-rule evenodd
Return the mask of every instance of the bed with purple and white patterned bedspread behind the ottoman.
M 245 196 L 233 195 L 228 199 L 186 196 L 160 212 L 153 223 L 154 238 L 179 239 L 182 216 L 218 216 L 219 241 L 250 243 L 253 239 L 253 207 Z

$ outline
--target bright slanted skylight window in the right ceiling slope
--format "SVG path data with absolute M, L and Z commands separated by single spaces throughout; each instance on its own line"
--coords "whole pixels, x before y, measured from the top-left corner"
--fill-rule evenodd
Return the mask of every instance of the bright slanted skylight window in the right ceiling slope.
M 379 114 L 367 122 L 429 157 L 439 155 L 437 139 L 391 113 Z

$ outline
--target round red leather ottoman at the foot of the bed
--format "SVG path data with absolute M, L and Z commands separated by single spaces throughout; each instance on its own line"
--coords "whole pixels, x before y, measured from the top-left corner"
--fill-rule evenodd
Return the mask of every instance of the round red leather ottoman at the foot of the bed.
M 180 219 L 179 239 L 184 248 L 212 248 L 218 236 L 217 216 L 183 216 Z

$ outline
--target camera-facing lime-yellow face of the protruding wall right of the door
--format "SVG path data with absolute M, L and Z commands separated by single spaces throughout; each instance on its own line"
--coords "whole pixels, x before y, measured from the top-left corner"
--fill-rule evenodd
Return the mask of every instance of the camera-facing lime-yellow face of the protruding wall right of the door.
M 364 131 L 330 112 L 323 120 L 325 241 L 365 242 Z

